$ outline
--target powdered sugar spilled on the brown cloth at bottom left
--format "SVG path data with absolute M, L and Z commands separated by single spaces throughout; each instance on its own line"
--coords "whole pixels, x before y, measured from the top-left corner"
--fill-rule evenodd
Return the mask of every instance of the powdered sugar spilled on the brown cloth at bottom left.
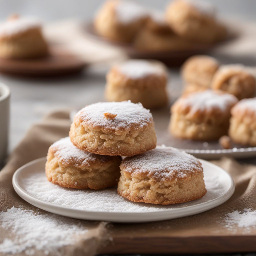
M 14 236 L 13 240 L 5 238 L 0 243 L 0 252 L 6 254 L 25 252 L 32 255 L 35 249 L 49 254 L 73 244 L 75 236 L 87 232 L 79 220 L 15 207 L 0 213 L 0 225 Z

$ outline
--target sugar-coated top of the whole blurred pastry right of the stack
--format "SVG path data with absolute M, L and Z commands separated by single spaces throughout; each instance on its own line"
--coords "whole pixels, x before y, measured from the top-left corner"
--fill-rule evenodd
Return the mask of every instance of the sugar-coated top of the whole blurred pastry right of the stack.
M 231 94 L 206 90 L 203 92 L 190 93 L 178 99 L 175 104 L 179 104 L 183 109 L 190 107 L 190 113 L 196 113 L 199 110 L 211 111 L 213 109 L 226 111 L 237 101 L 237 98 Z

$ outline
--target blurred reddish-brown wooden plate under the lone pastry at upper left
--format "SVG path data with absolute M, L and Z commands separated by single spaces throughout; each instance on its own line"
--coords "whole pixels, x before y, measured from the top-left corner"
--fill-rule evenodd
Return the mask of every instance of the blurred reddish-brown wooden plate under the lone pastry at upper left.
M 35 59 L 0 59 L 0 72 L 18 76 L 63 76 L 81 71 L 87 64 L 70 52 L 51 46 L 49 55 Z

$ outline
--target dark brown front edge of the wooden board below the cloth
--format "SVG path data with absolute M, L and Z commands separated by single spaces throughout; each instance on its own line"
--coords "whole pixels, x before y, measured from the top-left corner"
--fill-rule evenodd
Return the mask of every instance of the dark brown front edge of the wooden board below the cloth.
M 100 254 L 195 254 L 256 251 L 256 236 L 115 237 Z

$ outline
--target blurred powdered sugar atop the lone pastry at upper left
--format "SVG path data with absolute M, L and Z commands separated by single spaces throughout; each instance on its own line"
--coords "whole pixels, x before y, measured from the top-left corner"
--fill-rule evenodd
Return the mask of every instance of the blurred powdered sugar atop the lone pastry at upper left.
M 11 19 L 0 24 L 0 36 L 11 36 L 22 33 L 28 29 L 40 27 L 40 21 L 34 17 L 21 17 L 17 19 Z

